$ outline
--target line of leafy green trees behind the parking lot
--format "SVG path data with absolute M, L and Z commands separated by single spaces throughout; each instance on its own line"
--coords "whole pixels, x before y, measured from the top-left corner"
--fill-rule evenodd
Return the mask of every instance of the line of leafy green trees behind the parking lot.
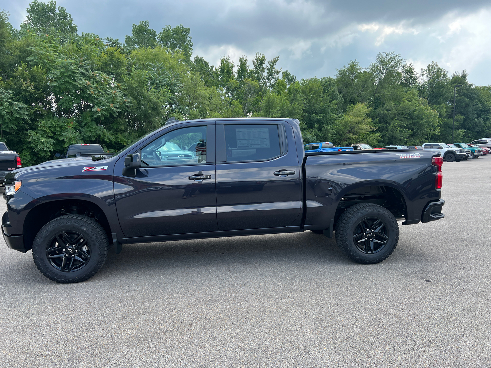
M 352 60 L 333 77 L 298 80 L 278 56 L 222 56 L 218 66 L 192 57 L 183 25 L 139 22 L 121 42 L 79 35 L 55 1 L 31 2 L 19 28 L 8 16 L 0 12 L 0 140 L 27 165 L 69 144 L 120 149 L 171 116 L 296 118 L 305 143 L 449 142 L 458 84 L 456 141 L 491 136 L 491 86 L 436 62 L 418 72 L 379 53 L 368 68 Z

